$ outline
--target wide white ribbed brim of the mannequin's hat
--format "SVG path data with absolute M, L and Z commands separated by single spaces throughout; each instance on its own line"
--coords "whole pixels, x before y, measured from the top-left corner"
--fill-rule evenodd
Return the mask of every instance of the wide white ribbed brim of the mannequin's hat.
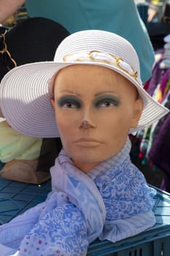
M 12 69 L 1 80 L 0 102 L 1 111 L 9 125 L 24 135 L 36 138 L 60 137 L 55 122 L 53 107 L 48 92 L 48 81 L 60 69 L 73 64 L 90 64 L 107 67 L 115 70 L 131 81 L 142 97 L 144 108 L 139 124 L 130 132 L 144 129 L 159 118 L 163 117 L 169 110 L 155 101 L 147 91 L 139 86 L 127 72 L 123 72 L 115 65 L 100 62 L 37 62 L 25 64 Z

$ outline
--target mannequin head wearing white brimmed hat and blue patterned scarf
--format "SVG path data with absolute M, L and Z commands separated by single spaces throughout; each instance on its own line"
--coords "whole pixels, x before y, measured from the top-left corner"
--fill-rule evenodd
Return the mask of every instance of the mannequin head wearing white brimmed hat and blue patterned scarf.
M 4 256 L 85 255 L 96 238 L 115 242 L 155 224 L 155 189 L 131 163 L 128 134 L 169 110 L 142 88 L 128 41 L 107 31 L 72 34 L 54 61 L 8 72 L 0 97 L 13 129 L 63 144 L 47 200 L 0 226 Z

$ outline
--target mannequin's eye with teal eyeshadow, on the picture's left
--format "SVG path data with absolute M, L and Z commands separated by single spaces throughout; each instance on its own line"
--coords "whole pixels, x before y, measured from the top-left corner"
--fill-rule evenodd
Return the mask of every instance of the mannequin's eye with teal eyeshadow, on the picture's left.
M 61 108 L 81 108 L 82 103 L 76 97 L 61 97 L 58 99 L 58 106 Z

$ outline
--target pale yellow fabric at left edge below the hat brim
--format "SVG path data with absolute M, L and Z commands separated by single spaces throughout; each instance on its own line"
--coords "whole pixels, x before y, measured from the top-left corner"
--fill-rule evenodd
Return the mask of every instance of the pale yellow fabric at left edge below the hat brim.
M 39 158 L 42 139 L 21 135 L 9 127 L 7 121 L 0 122 L 0 161 L 13 159 L 32 160 Z

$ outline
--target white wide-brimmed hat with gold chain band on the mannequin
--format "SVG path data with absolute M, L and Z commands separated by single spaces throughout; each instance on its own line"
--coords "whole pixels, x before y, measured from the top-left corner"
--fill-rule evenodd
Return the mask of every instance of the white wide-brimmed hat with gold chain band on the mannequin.
M 0 105 L 9 125 L 37 138 L 59 137 L 48 84 L 60 69 L 74 64 L 107 67 L 136 86 L 144 108 L 138 126 L 131 132 L 149 126 L 169 112 L 143 89 L 139 59 L 132 45 L 117 34 L 88 30 L 63 39 L 54 61 L 25 64 L 4 76 L 0 86 Z

